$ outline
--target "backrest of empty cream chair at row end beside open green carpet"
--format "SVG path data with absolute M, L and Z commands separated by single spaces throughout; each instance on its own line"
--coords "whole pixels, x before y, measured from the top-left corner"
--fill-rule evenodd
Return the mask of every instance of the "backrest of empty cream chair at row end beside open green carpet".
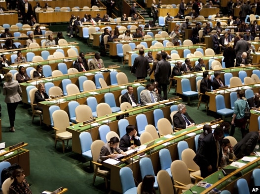
M 70 126 L 68 113 L 63 110 L 56 110 L 52 113 L 52 118 L 53 126 L 59 129 L 56 131 L 56 134 L 66 132 L 66 128 Z

